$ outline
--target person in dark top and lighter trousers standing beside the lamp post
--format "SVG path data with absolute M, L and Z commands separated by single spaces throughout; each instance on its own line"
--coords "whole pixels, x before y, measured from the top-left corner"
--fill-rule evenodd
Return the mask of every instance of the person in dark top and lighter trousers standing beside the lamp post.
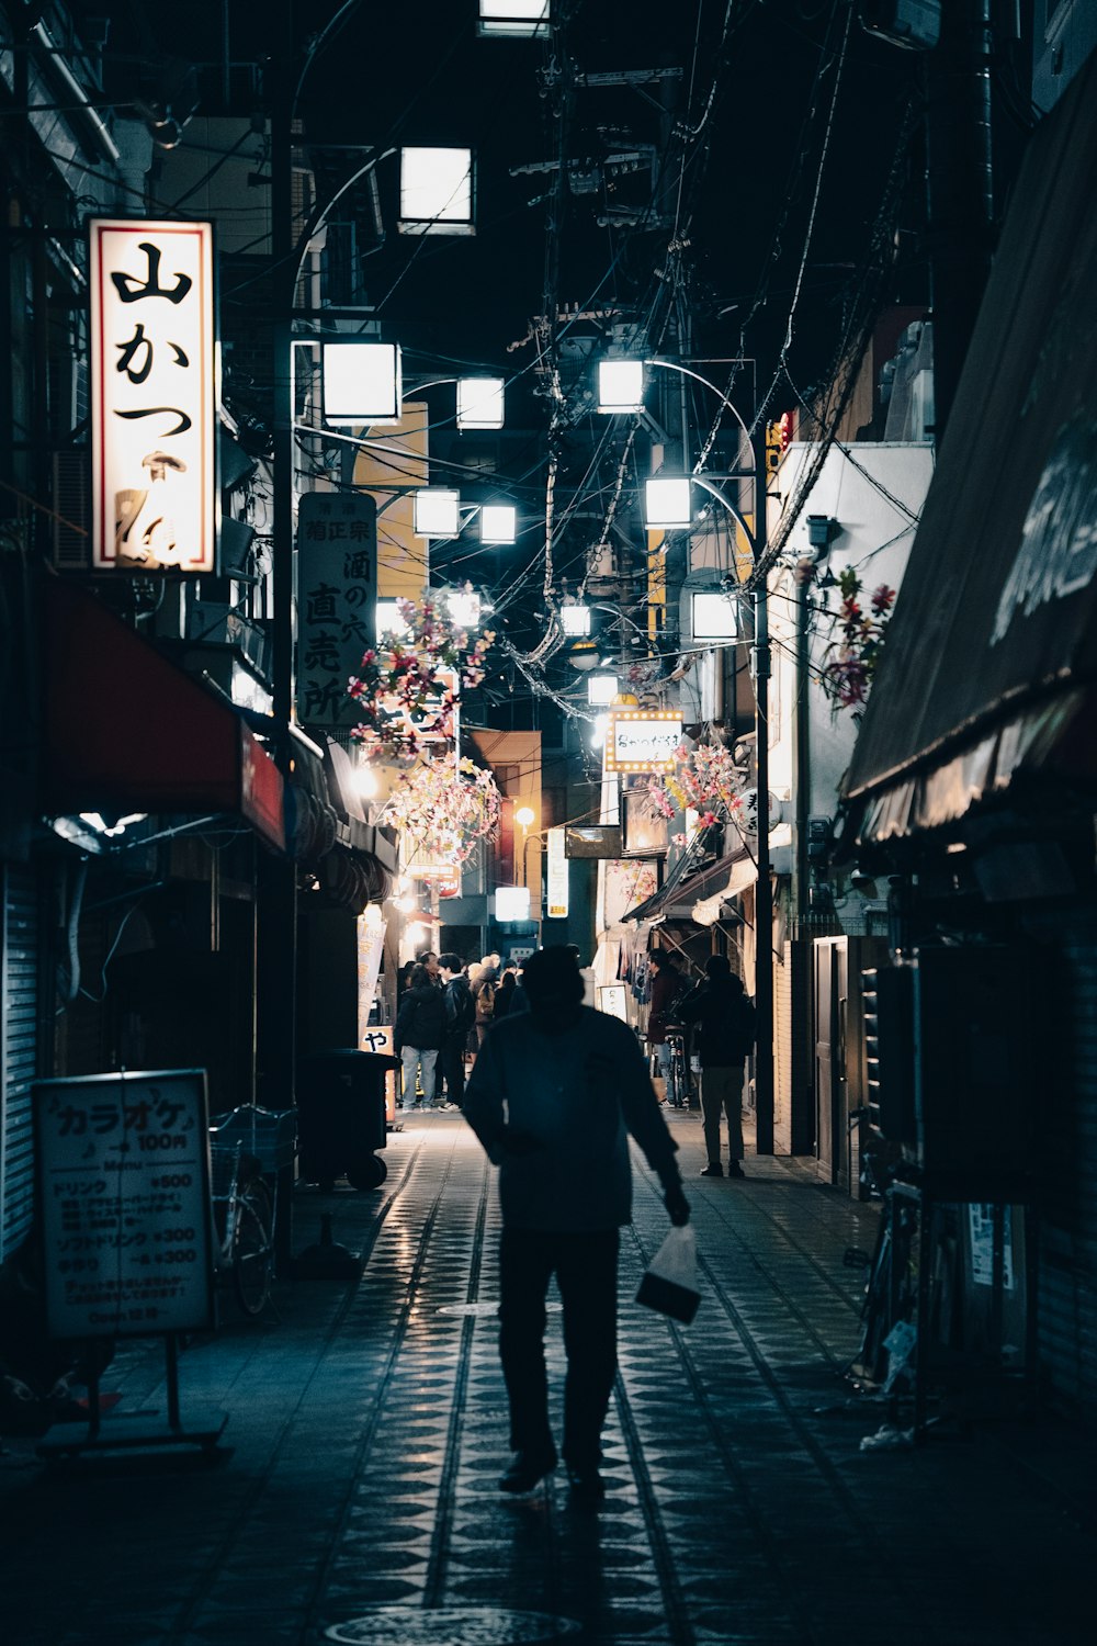
M 678 1016 L 697 1024 L 701 1053 L 701 1119 L 709 1164 L 702 1177 L 724 1177 L 720 1164 L 720 1116 L 727 1114 L 727 1175 L 745 1177 L 743 1159 L 743 1063 L 755 1044 L 755 1007 L 732 973 L 727 955 L 709 955 L 706 981 L 679 1001 Z

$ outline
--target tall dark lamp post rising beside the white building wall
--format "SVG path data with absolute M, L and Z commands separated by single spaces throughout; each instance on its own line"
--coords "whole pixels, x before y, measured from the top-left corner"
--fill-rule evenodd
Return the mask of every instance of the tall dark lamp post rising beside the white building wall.
M 755 438 L 755 570 L 766 551 L 765 425 Z M 770 591 L 763 573 L 755 588 L 755 770 L 758 782 L 758 882 L 755 887 L 755 1053 L 757 1151 L 773 1154 L 773 889 L 770 886 Z

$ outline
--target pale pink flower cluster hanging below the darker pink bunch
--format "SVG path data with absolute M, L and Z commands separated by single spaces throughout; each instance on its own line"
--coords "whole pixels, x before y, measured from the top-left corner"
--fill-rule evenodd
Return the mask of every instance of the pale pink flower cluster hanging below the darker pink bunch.
M 451 752 L 400 774 L 385 803 L 385 823 L 410 839 L 414 858 L 459 867 L 477 839 L 498 833 L 502 805 L 492 774 Z

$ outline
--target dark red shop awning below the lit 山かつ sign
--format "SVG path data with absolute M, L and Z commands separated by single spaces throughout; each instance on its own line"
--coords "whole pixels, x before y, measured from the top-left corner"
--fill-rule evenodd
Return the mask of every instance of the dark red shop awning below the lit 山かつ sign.
M 242 718 L 72 583 L 44 591 L 43 810 L 238 811 L 285 849 L 283 780 Z

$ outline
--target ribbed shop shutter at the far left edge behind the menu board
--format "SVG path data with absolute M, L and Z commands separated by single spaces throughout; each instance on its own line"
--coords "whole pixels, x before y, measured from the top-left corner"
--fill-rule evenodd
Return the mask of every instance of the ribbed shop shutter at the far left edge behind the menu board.
M 31 1081 L 38 1073 L 38 892 L 30 869 L 0 869 L 0 1258 L 31 1223 L 35 1157 Z

